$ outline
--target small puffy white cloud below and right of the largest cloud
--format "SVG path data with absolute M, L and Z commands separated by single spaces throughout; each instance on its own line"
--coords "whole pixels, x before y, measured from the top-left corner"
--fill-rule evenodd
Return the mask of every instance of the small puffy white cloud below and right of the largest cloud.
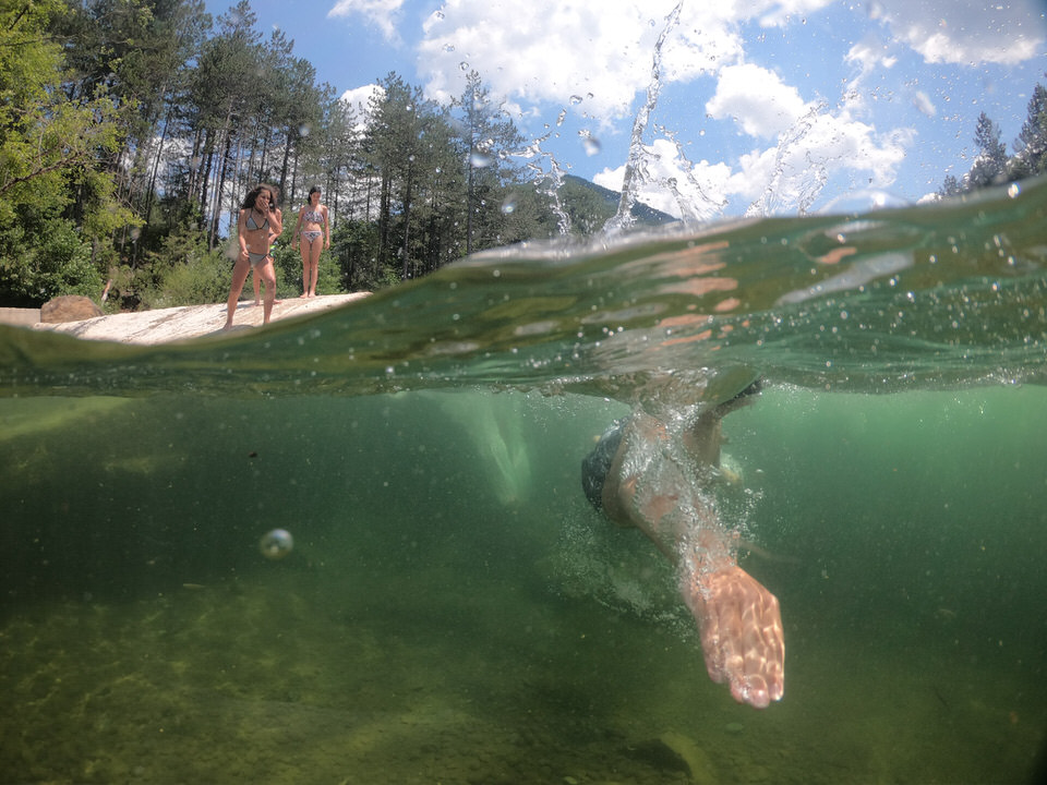
M 720 71 L 717 92 L 706 104 L 715 120 L 733 119 L 750 136 L 773 138 L 810 108 L 795 87 L 759 65 L 729 65 Z

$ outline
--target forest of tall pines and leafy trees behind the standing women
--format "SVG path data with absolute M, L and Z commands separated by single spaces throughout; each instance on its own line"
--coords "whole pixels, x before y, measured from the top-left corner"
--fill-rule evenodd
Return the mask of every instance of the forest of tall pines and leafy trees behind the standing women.
M 607 217 L 577 183 L 563 207 L 562 183 L 520 164 L 478 74 L 441 106 L 390 73 L 354 109 L 246 0 L 217 19 L 202 0 L 0 0 L 0 305 L 97 300 L 110 281 L 110 309 L 221 301 L 222 235 L 258 182 L 289 224 L 284 294 L 300 291 L 288 241 L 314 184 L 335 228 L 325 293 Z

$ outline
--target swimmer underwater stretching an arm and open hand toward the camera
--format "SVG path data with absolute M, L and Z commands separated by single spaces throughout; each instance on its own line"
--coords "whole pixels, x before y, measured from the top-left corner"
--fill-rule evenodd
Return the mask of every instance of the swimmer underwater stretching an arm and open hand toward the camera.
M 720 518 L 709 490 L 720 476 L 721 421 L 759 391 L 755 382 L 678 422 L 639 410 L 615 422 L 582 461 L 582 487 L 593 507 L 642 531 L 675 564 L 709 677 L 727 683 L 739 703 L 765 709 L 785 692 L 781 611 L 738 567 L 737 533 Z

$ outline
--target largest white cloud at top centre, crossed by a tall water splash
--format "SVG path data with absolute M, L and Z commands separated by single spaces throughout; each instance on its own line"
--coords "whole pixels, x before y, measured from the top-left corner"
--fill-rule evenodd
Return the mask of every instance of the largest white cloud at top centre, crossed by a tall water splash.
M 433 98 L 457 96 L 464 74 L 476 70 L 493 93 L 510 100 L 574 106 L 612 122 L 627 117 L 647 88 L 655 43 L 675 5 L 446 0 L 424 22 L 419 72 Z M 685 82 L 737 62 L 738 19 L 732 3 L 684 3 L 662 52 L 665 80 Z

